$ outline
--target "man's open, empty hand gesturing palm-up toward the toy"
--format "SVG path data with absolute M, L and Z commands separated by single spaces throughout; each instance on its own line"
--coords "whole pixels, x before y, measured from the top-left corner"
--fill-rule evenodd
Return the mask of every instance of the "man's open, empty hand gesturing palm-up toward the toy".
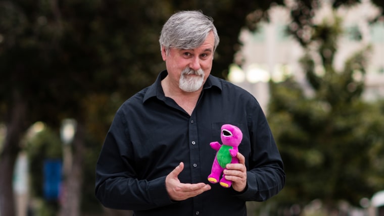
M 197 184 L 184 184 L 178 179 L 178 175 L 184 169 L 184 164 L 181 162 L 168 176 L 165 178 L 165 187 L 169 197 L 172 200 L 180 201 L 190 197 L 197 196 L 207 190 L 211 189 L 211 186 L 205 183 Z

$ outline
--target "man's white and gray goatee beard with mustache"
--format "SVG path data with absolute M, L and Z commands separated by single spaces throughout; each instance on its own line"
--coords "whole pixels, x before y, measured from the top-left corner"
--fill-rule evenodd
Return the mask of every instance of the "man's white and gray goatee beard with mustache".
M 188 76 L 197 75 L 197 76 Z M 203 86 L 204 71 L 197 71 L 186 67 L 182 72 L 179 80 L 179 88 L 185 92 L 195 92 Z

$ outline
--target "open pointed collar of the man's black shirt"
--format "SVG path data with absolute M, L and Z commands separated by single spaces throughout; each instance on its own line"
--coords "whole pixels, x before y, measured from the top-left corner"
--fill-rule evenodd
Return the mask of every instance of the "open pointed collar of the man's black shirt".
M 161 87 L 161 81 L 168 75 L 168 72 L 167 70 L 164 70 L 162 72 L 160 72 L 160 74 L 158 75 L 156 81 L 150 85 L 147 89 L 147 92 L 145 93 L 144 95 L 144 98 L 142 100 L 142 102 L 146 102 L 149 98 L 151 97 L 157 97 L 159 99 L 164 99 L 165 98 L 165 94 L 164 94 L 164 91 L 163 91 L 163 88 Z M 209 75 L 209 77 L 207 78 L 206 82 L 204 83 L 204 86 L 203 86 L 203 90 L 204 89 L 209 89 L 209 88 L 212 88 L 212 87 L 216 87 L 218 89 L 220 89 L 221 91 L 221 82 L 219 81 L 219 78 L 217 77 L 214 77 L 212 75 Z

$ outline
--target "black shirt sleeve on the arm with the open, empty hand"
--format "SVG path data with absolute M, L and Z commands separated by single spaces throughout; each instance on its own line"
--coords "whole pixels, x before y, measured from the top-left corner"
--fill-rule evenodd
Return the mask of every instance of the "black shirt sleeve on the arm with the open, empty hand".
M 125 118 L 118 112 L 96 165 L 96 197 L 105 207 L 115 209 L 147 210 L 172 204 L 165 187 L 166 176 L 137 179 L 134 164 L 126 156 L 130 148 L 125 129 Z

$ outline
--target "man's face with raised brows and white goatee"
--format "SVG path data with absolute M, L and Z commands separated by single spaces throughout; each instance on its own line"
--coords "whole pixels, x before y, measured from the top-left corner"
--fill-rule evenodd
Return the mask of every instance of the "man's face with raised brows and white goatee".
M 168 78 L 172 86 L 185 92 L 195 92 L 203 87 L 212 69 L 214 36 L 210 32 L 204 43 L 194 49 L 162 48 Z

